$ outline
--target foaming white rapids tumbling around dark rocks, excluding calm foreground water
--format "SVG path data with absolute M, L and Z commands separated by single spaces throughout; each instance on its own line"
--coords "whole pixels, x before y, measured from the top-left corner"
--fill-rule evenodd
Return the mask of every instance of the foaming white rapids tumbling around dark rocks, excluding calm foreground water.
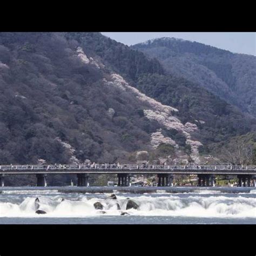
M 60 194 L 55 191 L 3 191 L 0 195 L 0 217 L 24 218 L 84 218 L 120 215 L 127 212 L 137 216 L 173 216 L 204 218 L 256 218 L 256 197 L 230 194 L 211 194 L 208 191 L 190 194 Z M 126 210 L 129 199 L 139 207 Z M 39 202 L 36 202 L 36 198 Z M 64 200 L 63 200 L 64 199 Z M 93 204 L 99 202 L 103 210 Z M 118 205 L 120 210 L 118 210 Z M 37 214 L 37 210 L 46 214 Z M 103 212 L 104 211 L 104 212 Z M 125 217 L 124 217 L 125 218 Z

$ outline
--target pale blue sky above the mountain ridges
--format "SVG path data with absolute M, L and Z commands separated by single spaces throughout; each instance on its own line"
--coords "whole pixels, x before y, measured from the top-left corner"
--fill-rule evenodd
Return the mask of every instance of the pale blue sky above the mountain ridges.
M 175 37 L 234 53 L 256 56 L 255 32 L 102 32 L 102 34 L 129 46 L 154 38 Z

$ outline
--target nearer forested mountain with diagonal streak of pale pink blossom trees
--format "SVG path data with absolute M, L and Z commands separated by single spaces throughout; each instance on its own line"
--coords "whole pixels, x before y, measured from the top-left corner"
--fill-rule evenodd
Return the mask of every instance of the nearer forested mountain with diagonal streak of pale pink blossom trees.
M 199 163 L 255 126 L 100 33 L 0 33 L 0 164 Z

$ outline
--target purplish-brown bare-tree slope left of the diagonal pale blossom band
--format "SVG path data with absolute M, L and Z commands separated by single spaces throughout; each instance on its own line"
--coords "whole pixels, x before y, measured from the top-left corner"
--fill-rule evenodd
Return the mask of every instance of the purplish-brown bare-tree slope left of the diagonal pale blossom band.
M 104 86 L 111 69 L 79 45 L 65 33 L 0 34 L 1 164 L 113 162 L 149 142 L 142 104 Z

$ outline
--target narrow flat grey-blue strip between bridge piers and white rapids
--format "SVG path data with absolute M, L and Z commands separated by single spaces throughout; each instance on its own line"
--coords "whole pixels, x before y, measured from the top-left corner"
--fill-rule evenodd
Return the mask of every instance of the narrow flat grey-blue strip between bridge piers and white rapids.
M 133 193 L 133 194 L 144 194 L 144 193 L 188 193 L 197 191 L 219 191 L 221 193 L 250 193 L 255 190 L 256 187 L 76 187 L 76 186 L 64 186 L 64 187 L 0 187 L 0 193 L 2 191 L 12 190 L 52 190 L 59 193 Z

